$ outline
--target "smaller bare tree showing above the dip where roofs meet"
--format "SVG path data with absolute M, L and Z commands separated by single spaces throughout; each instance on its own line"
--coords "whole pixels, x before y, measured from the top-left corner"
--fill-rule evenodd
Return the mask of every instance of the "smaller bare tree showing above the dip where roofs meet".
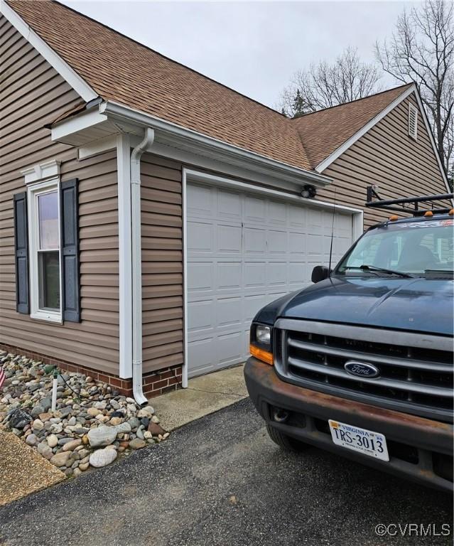
M 367 97 L 379 90 L 377 66 L 363 63 L 357 49 L 347 48 L 332 65 L 312 63 L 283 90 L 281 109 L 291 117 Z

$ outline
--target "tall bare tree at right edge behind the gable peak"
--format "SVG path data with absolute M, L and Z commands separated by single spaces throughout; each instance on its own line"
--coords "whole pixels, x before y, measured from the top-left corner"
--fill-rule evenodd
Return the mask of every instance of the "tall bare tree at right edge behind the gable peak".
M 426 0 L 417 9 L 404 11 L 391 41 L 377 42 L 375 51 L 383 70 L 401 82 L 418 84 L 448 172 L 454 147 L 453 4 Z

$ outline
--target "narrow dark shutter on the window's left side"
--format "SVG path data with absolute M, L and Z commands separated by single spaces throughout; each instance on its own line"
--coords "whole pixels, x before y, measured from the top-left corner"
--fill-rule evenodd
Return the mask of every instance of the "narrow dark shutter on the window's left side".
M 29 314 L 26 192 L 16 193 L 14 196 L 14 250 L 16 254 L 16 311 Z

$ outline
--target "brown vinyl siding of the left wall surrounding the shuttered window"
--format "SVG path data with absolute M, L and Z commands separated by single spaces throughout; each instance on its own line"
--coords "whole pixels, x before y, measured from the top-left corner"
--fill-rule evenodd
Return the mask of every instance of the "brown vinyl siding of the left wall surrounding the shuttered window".
M 0 18 L 0 344 L 107 373 L 119 372 L 117 156 L 77 161 L 44 125 L 81 98 L 4 17 Z M 82 321 L 63 325 L 16 312 L 13 195 L 21 170 L 61 161 L 61 179 L 79 179 Z

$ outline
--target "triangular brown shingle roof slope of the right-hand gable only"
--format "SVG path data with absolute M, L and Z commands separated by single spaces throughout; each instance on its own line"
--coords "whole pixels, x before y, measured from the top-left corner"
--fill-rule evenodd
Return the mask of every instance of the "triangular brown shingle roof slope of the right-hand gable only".
M 310 164 L 315 168 L 413 83 L 376 95 L 306 114 L 292 120 L 298 127 Z

